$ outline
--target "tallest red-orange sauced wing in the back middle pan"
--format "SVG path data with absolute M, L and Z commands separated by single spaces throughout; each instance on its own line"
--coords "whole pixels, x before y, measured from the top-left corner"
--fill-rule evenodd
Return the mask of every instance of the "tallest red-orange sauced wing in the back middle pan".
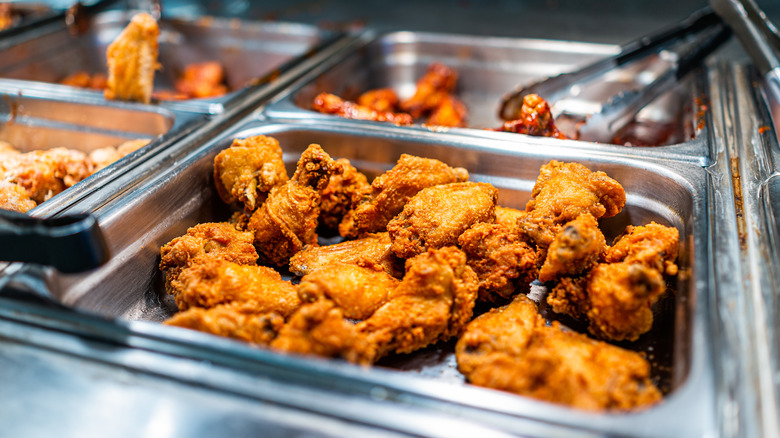
M 401 102 L 401 109 L 419 118 L 435 110 L 455 90 L 458 73 L 439 62 L 428 65 L 425 74 L 417 81 L 414 96 Z

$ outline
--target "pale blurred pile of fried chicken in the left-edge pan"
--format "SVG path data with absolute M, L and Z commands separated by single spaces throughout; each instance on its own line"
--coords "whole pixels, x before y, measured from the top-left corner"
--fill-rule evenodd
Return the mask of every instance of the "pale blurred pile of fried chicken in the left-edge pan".
M 0 141 L 0 209 L 26 213 L 149 140 L 130 140 L 89 154 L 63 147 L 22 152 Z

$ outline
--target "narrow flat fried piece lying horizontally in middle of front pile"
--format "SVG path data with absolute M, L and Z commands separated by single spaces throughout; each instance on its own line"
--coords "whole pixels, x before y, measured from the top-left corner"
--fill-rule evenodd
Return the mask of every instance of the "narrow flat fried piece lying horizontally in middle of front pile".
M 306 275 L 332 263 L 351 263 L 360 266 L 380 266 L 396 278 L 404 276 L 403 260 L 390 250 L 387 232 L 367 234 L 355 240 L 345 240 L 335 245 L 307 245 L 290 258 L 290 272 Z

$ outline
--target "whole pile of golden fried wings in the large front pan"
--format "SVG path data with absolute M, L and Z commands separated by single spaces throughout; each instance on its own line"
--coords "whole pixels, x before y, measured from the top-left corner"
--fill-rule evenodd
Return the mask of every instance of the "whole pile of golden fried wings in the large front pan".
M 257 136 L 216 156 L 214 180 L 239 211 L 162 247 L 179 308 L 165 324 L 358 364 L 457 337 L 476 385 L 590 410 L 661 399 L 647 360 L 604 340 L 650 329 L 678 232 L 630 226 L 607 245 L 598 220 L 626 196 L 603 172 L 551 161 L 520 211 L 466 169 L 411 155 L 369 183 L 312 144 L 288 178 L 278 141 Z M 319 245 L 324 229 L 343 241 Z M 525 295 L 536 279 L 602 340 L 546 324 Z M 477 303 L 494 308 L 474 318 Z

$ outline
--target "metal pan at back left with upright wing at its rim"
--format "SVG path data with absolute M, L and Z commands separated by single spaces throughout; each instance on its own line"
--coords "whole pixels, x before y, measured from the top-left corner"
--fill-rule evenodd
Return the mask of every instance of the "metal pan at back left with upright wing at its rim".
M 106 48 L 130 22 L 132 11 L 95 15 L 87 31 L 72 35 L 61 26 L 53 31 L 31 32 L 23 42 L 2 50 L 0 78 L 17 86 L 62 89 L 58 82 L 78 72 L 106 73 Z M 213 17 L 160 21 L 159 62 L 155 90 L 173 90 L 184 68 L 197 62 L 219 61 L 230 93 L 214 98 L 167 101 L 169 106 L 219 112 L 232 97 L 264 77 L 281 72 L 286 64 L 324 44 L 334 35 L 314 26 L 283 22 L 249 22 Z M 20 83 L 21 81 L 21 83 Z M 0 84 L 3 81 L 0 80 Z M 67 87 L 71 89 L 71 87 Z M 87 91 L 88 95 L 101 95 Z

